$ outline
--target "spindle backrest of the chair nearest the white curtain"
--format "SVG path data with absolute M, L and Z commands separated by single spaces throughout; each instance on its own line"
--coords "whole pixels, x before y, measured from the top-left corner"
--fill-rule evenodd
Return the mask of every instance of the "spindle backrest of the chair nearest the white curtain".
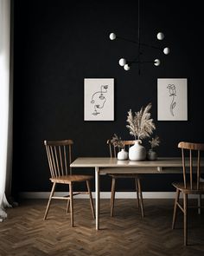
M 51 177 L 72 174 L 72 140 L 44 141 Z

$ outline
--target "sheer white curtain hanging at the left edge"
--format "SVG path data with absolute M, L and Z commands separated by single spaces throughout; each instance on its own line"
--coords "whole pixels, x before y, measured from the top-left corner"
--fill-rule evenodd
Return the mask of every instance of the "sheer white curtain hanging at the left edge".
M 10 0 L 0 0 L 0 221 L 7 217 L 5 187 L 10 141 Z M 10 153 L 9 153 L 10 154 Z

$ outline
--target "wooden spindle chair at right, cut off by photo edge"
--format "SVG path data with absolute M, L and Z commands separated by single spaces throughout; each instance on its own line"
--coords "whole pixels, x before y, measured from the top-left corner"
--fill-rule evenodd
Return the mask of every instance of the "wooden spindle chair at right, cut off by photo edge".
M 172 221 L 172 229 L 175 228 L 176 210 L 179 207 L 183 213 L 184 246 L 188 244 L 188 194 L 198 194 L 198 213 L 201 213 L 201 194 L 204 194 L 204 183 L 201 182 L 201 151 L 204 151 L 204 144 L 180 142 L 178 148 L 182 149 L 182 171 L 183 181 L 174 182 L 176 189 L 175 207 Z M 187 156 L 187 154 L 189 154 Z M 194 156 L 195 155 L 195 156 Z M 194 158 L 193 158 L 194 156 Z M 186 164 L 189 165 L 189 170 Z M 180 194 L 183 195 L 183 203 L 179 202 Z

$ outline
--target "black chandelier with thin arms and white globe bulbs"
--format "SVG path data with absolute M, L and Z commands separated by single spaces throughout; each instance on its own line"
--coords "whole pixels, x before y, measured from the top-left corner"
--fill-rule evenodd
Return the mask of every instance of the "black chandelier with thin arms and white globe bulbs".
M 138 31 L 137 31 L 137 41 L 130 40 L 130 39 L 124 38 L 122 36 L 118 36 L 115 33 L 111 33 L 109 38 L 111 40 L 120 39 L 120 40 L 124 40 L 126 42 L 136 43 L 137 44 L 137 57 L 134 58 L 133 60 L 126 60 L 124 57 L 122 57 L 122 58 L 119 59 L 119 65 L 121 67 L 123 67 L 124 70 L 128 71 L 128 70 L 131 69 L 131 65 L 132 64 L 137 64 L 138 65 L 138 74 L 139 75 L 141 73 L 141 64 L 143 64 L 143 63 L 153 63 L 155 66 L 159 66 L 160 63 L 161 63 L 161 61 L 158 58 L 156 58 L 155 60 L 152 60 L 152 61 L 150 61 L 150 60 L 148 60 L 148 61 L 143 60 L 143 58 L 142 58 L 143 52 L 142 52 L 141 47 L 158 49 L 160 51 L 163 51 L 164 55 L 169 55 L 169 52 L 170 52 L 169 47 L 161 48 L 161 47 L 156 47 L 154 45 L 150 45 L 148 43 L 141 42 L 141 35 L 140 34 L 141 34 L 141 28 L 140 28 L 140 0 L 138 0 Z M 156 38 L 157 38 L 157 40 L 163 40 L 163 38 L 164 38 L 163 32 L 158 32 L 157 35 L 156 35 Z

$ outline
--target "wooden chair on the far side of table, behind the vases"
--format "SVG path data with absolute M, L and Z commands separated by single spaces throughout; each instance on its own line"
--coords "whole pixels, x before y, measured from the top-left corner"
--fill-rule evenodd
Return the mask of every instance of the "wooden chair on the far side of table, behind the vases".
M 128 152 L 129 148 L 135 144 L 135 141 L 122 141 L 124 144 L 124 149 Z M 110 151 L 110 156 L 111 157 L 117 157 L 118 151 L 121 148 L 115 147 L 112 144 L 111 140 L 107 141 L 109 151 Z M 144 209 L 143 209 L 143 193 L 142 193 L 142 187 L 141 187 L 141 182 L 140 182 L 140 175 L 139 174 L 109 174 L 109 176 L 112 177 L 112 193 L 111 193 L 111 202 L 110 202 L 110 207 L 111 207 L 111 217 L 113 216 L 113 208 L 114 208 L 114 203 L 115 203 L 115 190 L 116 190 L 116 181 L 117 179 L 134 179 L 135 180 L 135 185 L 136 185 L 136 192 L 137 192 L 137 206 L 141 210 L 142 217 L 144 216 Z

